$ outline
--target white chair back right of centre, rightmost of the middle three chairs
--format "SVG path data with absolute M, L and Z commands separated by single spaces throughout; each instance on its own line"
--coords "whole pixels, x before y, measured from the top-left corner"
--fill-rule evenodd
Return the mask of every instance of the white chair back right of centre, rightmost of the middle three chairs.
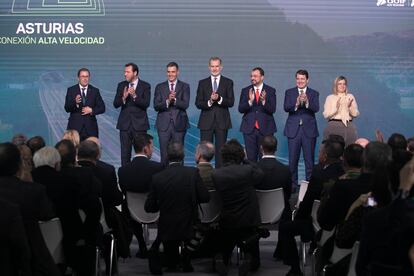
M 274 224 L 280 220 L 285 209 L 283 188 L 256 190 L 262 224 Z

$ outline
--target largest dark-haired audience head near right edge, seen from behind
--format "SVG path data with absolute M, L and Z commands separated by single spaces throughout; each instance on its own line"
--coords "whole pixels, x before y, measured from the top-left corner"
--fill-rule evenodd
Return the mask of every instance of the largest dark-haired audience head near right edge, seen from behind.
M 387 144 L 370 142 L 364 150 L 363 167 L 367 172 L 373 172 L 379 168 L 386 168 L 392 161 L 392 150 Z

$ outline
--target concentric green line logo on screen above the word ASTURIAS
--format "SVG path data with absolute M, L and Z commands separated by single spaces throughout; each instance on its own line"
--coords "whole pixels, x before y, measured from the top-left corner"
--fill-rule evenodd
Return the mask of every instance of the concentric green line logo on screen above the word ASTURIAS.
M 104 0 L 7 0 L 0 16 L 103 16 Z

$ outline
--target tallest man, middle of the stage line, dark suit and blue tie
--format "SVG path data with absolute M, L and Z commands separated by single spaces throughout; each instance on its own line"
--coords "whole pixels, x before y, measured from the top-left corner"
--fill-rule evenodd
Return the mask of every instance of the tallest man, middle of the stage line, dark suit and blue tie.
M 232 127 L 229 107 L 234 105 L 233 81 L 221 75 L 223 65 L 219 57 L 210 58 L 209 69 L 211 76 L 200 80 L 197 88 L 196 106 L 201 109 L 198 128 L 200 141 L 213 142 L 214 136 L 216 167 L 220 167 L 220 148 Z

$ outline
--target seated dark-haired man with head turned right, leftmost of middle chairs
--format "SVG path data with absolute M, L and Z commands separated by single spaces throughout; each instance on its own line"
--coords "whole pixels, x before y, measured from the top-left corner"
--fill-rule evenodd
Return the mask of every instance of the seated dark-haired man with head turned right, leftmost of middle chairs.
M 149 134 L 139 134 L 134 138 L 135 156 L 131 163 L 118 170 L 119 185 L 123 193 L 148 193 L 152 176 L 163 169 L 160 163 L 150 160 L 153 151 L 152 140 L 153 137 Z M 139 251 L 136 256 L 146 258 L 147 245 L 142 235 L 142 225 L 131 218 L 127 206 L 123 206 L 122 210 L 130 218 L 132 230 L 138 240 Z

